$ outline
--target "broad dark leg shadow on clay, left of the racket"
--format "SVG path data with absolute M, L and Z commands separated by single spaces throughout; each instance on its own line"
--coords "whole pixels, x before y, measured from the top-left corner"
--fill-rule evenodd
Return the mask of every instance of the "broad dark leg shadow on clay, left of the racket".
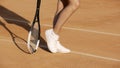
M 24 28 L 25 30 L 29 31 L 30 26 L 28 25 L 30 21 L 26 20 L 25 18 L 19 16 L 18 14 L 14 13 L 13 11 L 3 7 L 0 5 L 0 16 L 8 23 L 8 24 L 15 24 Z

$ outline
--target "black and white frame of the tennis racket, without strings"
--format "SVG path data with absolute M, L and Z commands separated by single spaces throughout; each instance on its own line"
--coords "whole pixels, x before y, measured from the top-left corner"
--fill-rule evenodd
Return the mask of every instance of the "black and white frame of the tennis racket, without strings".
M 40 4 L 41 4 L 41 0 L 37 0 L 37 6 L 36 6 L 36 12 L 35 12 L 35 16 L 34 16 L 34 19 L 33 19 L 33 22 L 32 22 L 32 25 L 31 25 L 31 28 L 30 28 L 30 31 L 29 31 L 29 34 L 28 34 L 28 41 L 27 41 L 27 47 L 28 47 L 28 50 L 29 52 L 32 54 L 34 52 L 36 52 L 38 46 L 39 46 L 39 43 L 40 43 L 40 17 L 39 17 L 39 12 L 40 12 Z M 33 30 L 33 27 L 35 25 L 35 23 L 38 24 L 38 40 L 37 40 L 37 44 L 36 44 L 36 48 L 34 49 L 34 51 L 31 51 L 31 46 L 30 46 L 30 36 L 32 34 L 32 30 Z

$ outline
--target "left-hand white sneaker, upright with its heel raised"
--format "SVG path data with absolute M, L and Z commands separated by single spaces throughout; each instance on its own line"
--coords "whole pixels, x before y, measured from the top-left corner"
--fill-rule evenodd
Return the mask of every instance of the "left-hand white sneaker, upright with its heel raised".
M 59 36 L 54 34 L 53 29 L 46 30 L 45 36 L 46 36 L 48 49 L 52 53 L 57 53 L 56 40 L 58 40 Z

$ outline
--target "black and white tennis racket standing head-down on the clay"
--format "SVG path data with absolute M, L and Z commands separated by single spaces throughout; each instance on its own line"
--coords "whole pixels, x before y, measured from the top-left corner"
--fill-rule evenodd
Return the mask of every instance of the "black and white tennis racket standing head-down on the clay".
M 41 0 L 37 0 L 36 13 L 33 19 L 33 23 L 31 25 L 31 29 L 28 34 L 27 47 L 31 54 L 36 52 L 40 43 L 40 18 L 39 18 L 40 4 Z

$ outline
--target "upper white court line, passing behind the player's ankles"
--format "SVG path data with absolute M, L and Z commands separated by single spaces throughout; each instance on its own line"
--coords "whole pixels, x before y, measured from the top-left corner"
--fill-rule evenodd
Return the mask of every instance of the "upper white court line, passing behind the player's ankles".
M 3 19 L 11 20 L 11 21 L 18 21 L 18 22 L 23 22 L 23 23 L 29 23 L 29 22 L 26 22 L 26 21 L 20 21 L 20 20 L 10 19 L 10 18 L 3 18 Z M 41 26 L 52 27 L 52 25 L 48 25 L 48 24 L 41 24 Z M 118 33 L 102 32 L 102 31 L 96 31 L 96 30 L 90 30 L 90 29 L 82 29 L 82 28 L 63 27 L 63 29 L 77 30 L 77 31 L 97 33 L 97 34 L 103 34 L 103 35 L 111 35 L 111 36 L 120 36 L 120 34 L 118 34 Z

